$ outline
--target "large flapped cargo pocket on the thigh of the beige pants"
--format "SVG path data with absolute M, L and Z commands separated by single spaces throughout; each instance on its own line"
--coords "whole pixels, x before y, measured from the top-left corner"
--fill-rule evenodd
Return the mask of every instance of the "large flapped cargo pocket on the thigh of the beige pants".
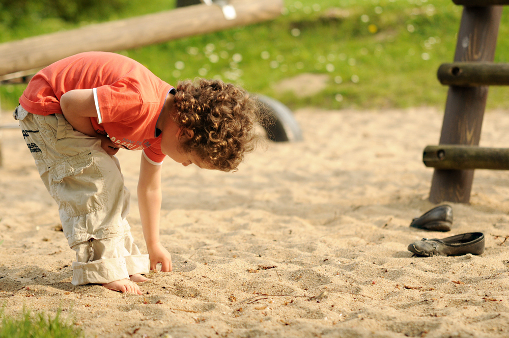
M 51 193 L 68 217 L 104 208 L 107 190 L 104 177 L 90 151 L 48 165 Z

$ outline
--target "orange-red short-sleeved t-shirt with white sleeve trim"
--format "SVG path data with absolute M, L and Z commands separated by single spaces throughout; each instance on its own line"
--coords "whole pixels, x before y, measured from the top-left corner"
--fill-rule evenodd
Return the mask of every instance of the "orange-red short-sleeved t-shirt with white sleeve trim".
M 122 148 L 143 149 L 153 164 L 162 163 L 156 123 L 166 95 L 175 90 L 171 85 L 123 55 L 84 52 L 39 71 L 19 103 L 32 114 L 62 114 L 60 98 L 73 89 L 93 89 L 98 118 L 90 120 L 97 132 Z

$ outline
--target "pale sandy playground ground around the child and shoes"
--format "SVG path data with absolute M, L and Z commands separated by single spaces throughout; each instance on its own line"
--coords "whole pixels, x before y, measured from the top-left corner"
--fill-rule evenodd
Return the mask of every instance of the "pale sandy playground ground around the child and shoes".
M 303 142 L 270 144 L 236 173 L 167 160 L 161 240 L 174 271 L 149 275 L 141 296 L 70 284 L 74 255 L 55 230 L 56 205 L 20 131 L 3 130 L 0 302 L 8 314 L 62 308 L 87 337 L 507 337 L 507 172 L 476 171 L 471 204 L 451 204 L 451 232 L 409 228 L 433 207 L 422 150 L 438 143 L 442 115 L 302 109 Z M 508 112 L 484 120 L 481 145 L 507 147 Z M 118 155 L 146 252 L 140 156 Z M 407 250 L 474 231 L 486 235 L 482 256 Z

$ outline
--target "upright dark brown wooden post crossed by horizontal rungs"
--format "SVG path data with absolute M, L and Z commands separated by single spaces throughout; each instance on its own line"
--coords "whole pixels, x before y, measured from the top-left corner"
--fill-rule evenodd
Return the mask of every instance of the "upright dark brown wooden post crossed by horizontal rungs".
M 464 7 L 455 62 L 493 62 L 502 6 Z M 449 87 L 440 144 L 477 146 L 488 86 Z M 435 170 L 430 202 L 469 203 L 473 170 Z

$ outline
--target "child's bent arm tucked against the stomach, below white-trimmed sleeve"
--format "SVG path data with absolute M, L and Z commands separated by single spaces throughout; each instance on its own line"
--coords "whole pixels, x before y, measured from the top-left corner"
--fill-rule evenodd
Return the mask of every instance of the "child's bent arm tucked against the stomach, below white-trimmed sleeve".
M 115 155 L 119 151 L 119 148 L 107 136 L 99 134 L 92 127 L 90 118 L 97 118 L 92 89 L 74 89 L 65 93 L 60 98 L 60 107 L 65 119 L 74 130 L 101 139 L 101 148 L 109 155 Z

